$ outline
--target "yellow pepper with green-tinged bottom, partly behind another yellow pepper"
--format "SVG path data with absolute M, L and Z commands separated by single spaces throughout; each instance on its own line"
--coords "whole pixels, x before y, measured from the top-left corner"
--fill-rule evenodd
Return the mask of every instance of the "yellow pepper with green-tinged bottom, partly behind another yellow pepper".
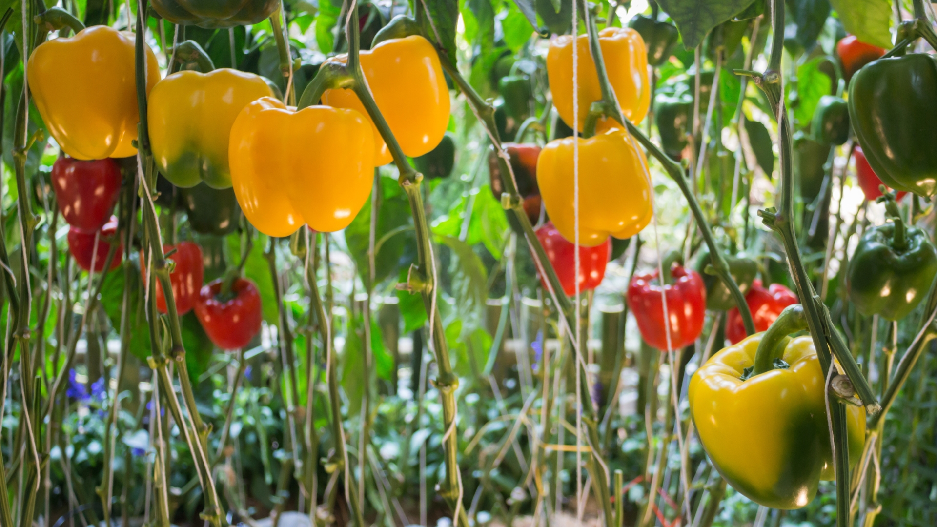
M 231 125 L 247 104 L 273 95 L 260 76 L 231 68 L 178 71 L 156 83 L 147 113 L 159 172 L 176 187 L 230 188 Z

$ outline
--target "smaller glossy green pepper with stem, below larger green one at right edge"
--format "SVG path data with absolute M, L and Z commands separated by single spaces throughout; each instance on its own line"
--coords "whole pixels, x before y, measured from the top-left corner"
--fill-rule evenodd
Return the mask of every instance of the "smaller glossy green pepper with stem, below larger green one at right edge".
M 907 227 L 894 194 L 879 197 L 892 222 L 872 227 L 855 248 L 846 273 L 846 288 L 855 308 L 897 321 L 930 291 L 937 274 L 937 250 L 927 233 Z

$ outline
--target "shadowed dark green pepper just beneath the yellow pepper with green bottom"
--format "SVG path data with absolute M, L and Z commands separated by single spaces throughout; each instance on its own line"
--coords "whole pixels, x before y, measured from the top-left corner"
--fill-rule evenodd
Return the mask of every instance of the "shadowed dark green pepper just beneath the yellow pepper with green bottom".
M 177 188 L 180 204 L 188 215 L 188 225 L 200 234 L 233 233 L 241 221 L 241 206 L 233 188 L 217 190 L 204 183 Z

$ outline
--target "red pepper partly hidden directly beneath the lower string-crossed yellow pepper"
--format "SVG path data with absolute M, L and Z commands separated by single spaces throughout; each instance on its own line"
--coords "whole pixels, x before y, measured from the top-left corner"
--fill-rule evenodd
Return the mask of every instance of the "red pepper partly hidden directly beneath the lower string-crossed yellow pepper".
M 575 245 L 559 233 L 552 221 L 547 221 L 543 227 L 537 229 L 537 239 L 543 245 L 550 264 L 553 264 L 554 270 L 557 271 L 557 278 L 563 286 L 563 292 L 572 296 L 576 288 Z M 579 246 L 580 292 L 595 289 L 602 283 L 602 279 L 605 278 L 605 264 L 608 263 L 608 255 L 611 251 L 612 242 L 609 240 L 596 247 Z M 543 277 L 541 281 L 543 282 Z M 546 287 L 545 282 L 543 287 Z

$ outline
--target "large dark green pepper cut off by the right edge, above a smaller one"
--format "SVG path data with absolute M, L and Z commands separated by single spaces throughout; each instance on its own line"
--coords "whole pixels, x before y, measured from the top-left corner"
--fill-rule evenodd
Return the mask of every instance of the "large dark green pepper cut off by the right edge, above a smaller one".
M 849 83 L 849 117 L 872 170 L 890 188 L 937 192 L 937 57 L 870 62 Z

